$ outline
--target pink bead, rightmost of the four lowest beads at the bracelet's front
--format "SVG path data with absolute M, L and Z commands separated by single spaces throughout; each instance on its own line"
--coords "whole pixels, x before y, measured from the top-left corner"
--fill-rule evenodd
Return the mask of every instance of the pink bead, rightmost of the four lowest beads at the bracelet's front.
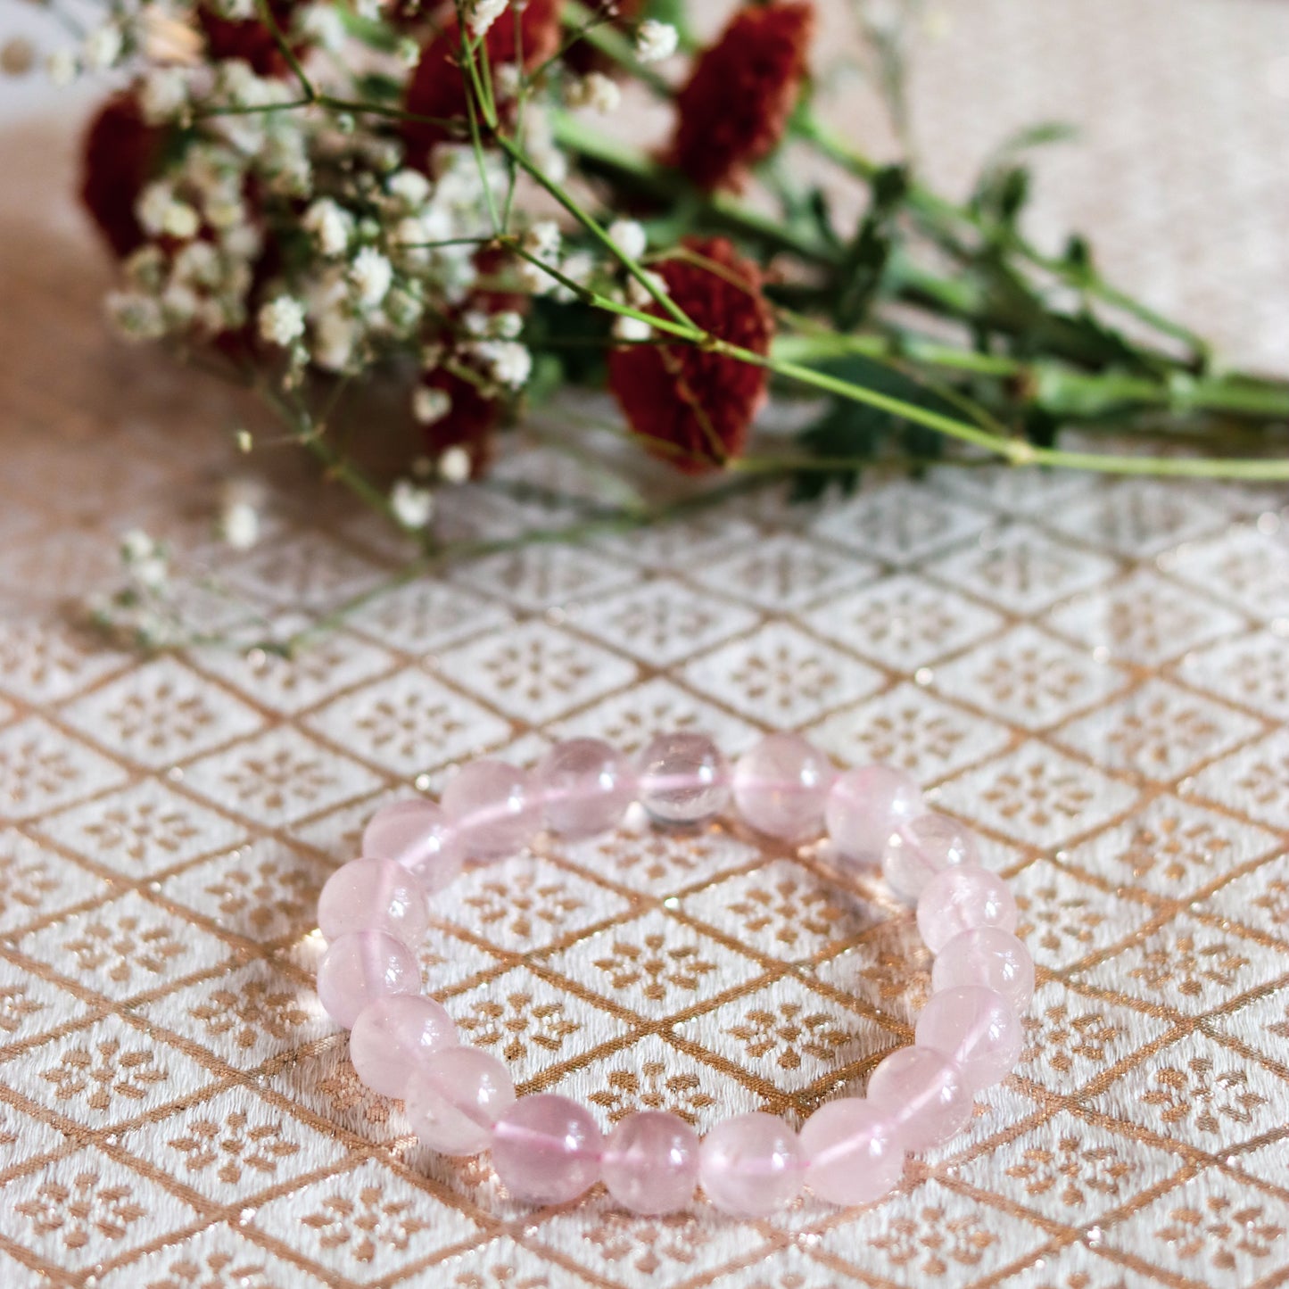
M 819 1107 L 802 1127 L 806 1183 L 830 1204 L 871 1204 L 904 1173 L 904 1142 L 889 1114 L 860 1097 Z

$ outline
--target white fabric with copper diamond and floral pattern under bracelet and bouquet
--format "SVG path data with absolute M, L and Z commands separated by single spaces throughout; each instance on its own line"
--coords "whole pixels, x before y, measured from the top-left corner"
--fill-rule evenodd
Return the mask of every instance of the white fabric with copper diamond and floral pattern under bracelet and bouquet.
M 1270 108 L 1289 13 L 973 0 L 951 17 L 928 54 L 931 137 L 951 121 L 995 139 L 1067 99 L 1092 137 L 1054 162 L 1069 209 L 1089 206 L 1163 303 L 1200 293 L 1199 321 L 1283 360 L 1267 257 L 1283 278 L 1286 244 L 1259 229 L 1284 209 L 1266 193 L 1285 196 Z M 0 192 L 5 1289 L 1283 1280 L 1280 492 L 974 470 L 821 509 L 762 498 L 384 590 L 294 663 L 113 651 L 68 606 L 119 579 L 125 525 L 166 536 L 214 634 L 374 592 L 400 550 L 286 456 L 266 543 L 218 548 L 214 428 L 250 412 L 104 340 L 102 269 L 40 199 L 66 187 L 45 162 L 68 139 L 55 122 L 0 141 L 23 175 Z M 1212 150 L 1203 174 L 1192 148 Z M 1075 179 L 1107 164 L 1127 187 L 1102 206 Z M 1250 300 L 1267 316 L 1232 308 Z M 445 534 L 574 517 L 532 491 L 586 482 L 540 432 L 498 486 L 445 504 Z M 516 1208 L 486 1167 L 419 1150 L 318 1011 L 313 901 L 379 802 L 482 750 L 531 761 L 567 733 L 635 746 L 675 724 L 735 753 L 799 728 L 842 763 L 906 766 L 1011 875 L 1040 968 L 1023 1062 L 871 1209 Z M 606 1125 L 641 1106 L 700 1128 L 807 1114 L 907 1040 L 928 989 L 878 884 L 723 829 L 543 847 L 468 874 L 438 911 L 427 982 L 465 1038 Z

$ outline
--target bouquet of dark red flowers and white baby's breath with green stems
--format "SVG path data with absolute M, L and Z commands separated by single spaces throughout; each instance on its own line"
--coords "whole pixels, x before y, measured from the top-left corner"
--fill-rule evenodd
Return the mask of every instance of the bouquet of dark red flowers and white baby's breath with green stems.
M 856 5 L 897 125 L 918 8 Z M 941 459 L 1289 477 L 1289 384 L 1221 369 L 1085 238 L 1026 237 L 1026 150 L 1057 129 L 1009 141 L 953 201 L 826 122 L 808 0 L 744 4 L 705 43 L 697 9 L 113 0 L 53 59 L 129 76 L 81 189 L 120 260 L 112 321 L 253 387 L 429 556 L 434 490 L 572 385 L 607 388 L 643 452 L 730 477 L 703 495 L 786 480 L 809 498 Z M 630 142 L 624 90 L 666 106 L 664 146 Z M 789 147 L 830 175 L 799 178 Z M 356 442 L 335 427 L 373 380 L 403 412 Z M 771 391 L 800 401 L 791 438 L 753 434 Z M 363 464 L 375 438 L 392 477 Z

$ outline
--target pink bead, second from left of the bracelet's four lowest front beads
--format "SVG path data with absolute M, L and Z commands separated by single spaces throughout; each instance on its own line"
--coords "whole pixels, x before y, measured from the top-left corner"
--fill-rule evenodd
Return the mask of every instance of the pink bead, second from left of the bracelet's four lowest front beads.
M 699 1134 L 665 1110 L 628 1115 L 608 1134 L 601 1178 L 632 1213 L 674 1213 L 693 1197 Z

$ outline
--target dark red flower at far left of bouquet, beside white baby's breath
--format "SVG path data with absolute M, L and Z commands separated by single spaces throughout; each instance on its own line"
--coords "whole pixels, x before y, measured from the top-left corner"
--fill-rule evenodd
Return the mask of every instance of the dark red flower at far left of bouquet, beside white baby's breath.
M 143 120 L 130 92 L 110 98 L 85 133 L 81 201 L 121 259 L 147 240 L 134 204 L 156 174 L 164 141 L 164 133 Z

